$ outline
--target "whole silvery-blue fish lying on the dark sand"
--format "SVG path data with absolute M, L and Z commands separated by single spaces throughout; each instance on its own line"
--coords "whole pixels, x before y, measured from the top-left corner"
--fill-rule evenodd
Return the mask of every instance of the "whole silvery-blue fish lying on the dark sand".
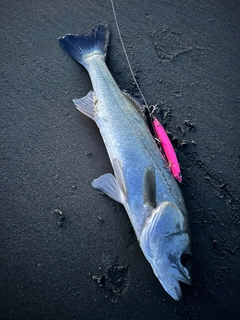
M 180 282 L 191 284 L 186 207 L 136 101 L 120 90 L 106 65 L 109 38 L 106 24 L 88 35 L 59 38 L 60 47 L 88 71 L 93 90 L 73 102 L 98 126 L 114 172 L 101 175 L 92 186 L 125 207 L 154 274 L 178 301 Z

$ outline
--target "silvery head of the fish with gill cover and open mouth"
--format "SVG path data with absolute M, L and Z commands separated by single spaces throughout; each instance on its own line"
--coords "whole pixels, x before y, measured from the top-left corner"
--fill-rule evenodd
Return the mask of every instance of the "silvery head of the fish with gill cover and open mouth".
M 157 206 L 143 229 L 140 245 L 165 291 L 180 300 L 179 282 L 191 284 L 189 272 L 190 239 L 187 220 L 171 202 Z

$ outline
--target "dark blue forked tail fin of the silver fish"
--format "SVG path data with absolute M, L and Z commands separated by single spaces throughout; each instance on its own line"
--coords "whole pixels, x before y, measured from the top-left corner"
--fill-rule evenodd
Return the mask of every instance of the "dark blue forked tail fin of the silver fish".
M 90 35 L 66 34 L 58 39 L 60 47 L 69 56 L 86 67 L 85 60 L 90 55 L 106 58 L 110 30 L 108 25 L 98 25 Z

